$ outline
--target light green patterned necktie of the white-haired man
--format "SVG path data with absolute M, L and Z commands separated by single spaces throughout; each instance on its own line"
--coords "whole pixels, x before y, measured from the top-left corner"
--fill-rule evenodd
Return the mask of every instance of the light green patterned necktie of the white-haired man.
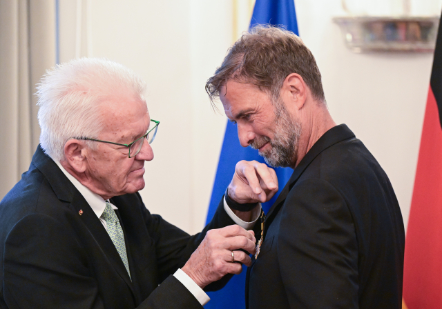
M 104 209 L 102 218 L 104 219 L 104 221 L 106 221 L 108 235 L 109 237 L 111 237 L 115 248 L 117 248 L 119 257 L 122 258 L 124 267 L 126 267 L 129 277 L 131 277 L 131 272 L 129 271 L 129 263 L 127 261 L 126 244 L 124 243 L 122 226 L 119 225 L 119 219 L 115 214 L 115 211 L 112 209 L 111 203 L 109 203 L 108 201 L 106 201 L 106 208 Z

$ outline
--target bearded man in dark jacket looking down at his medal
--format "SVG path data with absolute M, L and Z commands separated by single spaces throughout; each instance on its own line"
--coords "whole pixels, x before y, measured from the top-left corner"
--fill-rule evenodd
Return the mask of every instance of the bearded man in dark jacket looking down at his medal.
M 394 190 L 354 133 L 336 126 L 302 41 L 270 26 L 251 29 L 206 90 L 237 124 L 242 146 L 294 168 L 262 215 L 248 308 L 401 308 L 405 233 Z M 250 175 L 258 166 L 241 161 L 236 170 Z M 258 179 L 237 173 L 228 202 L 240 210 L 262 201 Z

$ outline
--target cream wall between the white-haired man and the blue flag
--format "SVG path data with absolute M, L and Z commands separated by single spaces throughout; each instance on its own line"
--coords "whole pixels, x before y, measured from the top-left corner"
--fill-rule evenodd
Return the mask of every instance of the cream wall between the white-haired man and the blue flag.
M 180 228 L 197 232 L 206 218 L 225 127 L 204 85 L 231 44 L 231 3 L 80 2 L 80 48 L 75 45 L 76 3 L 60 3 L 61 61 L 80 50 L 79 56 L 107 57 L 144 78 L 149 112 L 161 121 L 155 159 L 145 165 L 144 203 Z

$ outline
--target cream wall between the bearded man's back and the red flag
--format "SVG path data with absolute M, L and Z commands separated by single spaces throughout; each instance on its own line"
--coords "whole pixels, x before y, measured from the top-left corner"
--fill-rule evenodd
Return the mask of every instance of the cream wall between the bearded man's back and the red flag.
M 391 9 L 388 1 L 361 2 L 372 14 Z M 387 172 L 406 225 L 433 55 L 351 52 L 331 20 L 345 14 L 339 0 L 296 0 L 296 12 L 300 37 L 323 74 L 332 116 L 347 123 Z M 412 14 L 433 12 L 441 12 L 441 1 L 412 1 Z

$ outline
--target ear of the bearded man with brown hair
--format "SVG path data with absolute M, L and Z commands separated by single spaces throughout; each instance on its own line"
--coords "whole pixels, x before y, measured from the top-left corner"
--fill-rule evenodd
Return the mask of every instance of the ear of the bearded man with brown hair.
M 287 104 L 295 106 L 298 110 L 304 106 L 307 99 L 307 86 L 300 74 L 291 73 L 285 78 L 281 95 Z

